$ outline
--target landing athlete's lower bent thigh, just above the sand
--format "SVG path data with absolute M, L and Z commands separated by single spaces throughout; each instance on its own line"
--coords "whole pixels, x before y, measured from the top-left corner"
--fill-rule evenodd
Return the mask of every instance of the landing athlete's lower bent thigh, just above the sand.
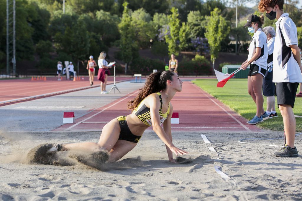
M 121 159 L 124 155 L 130 152 L 137 143 L 129 142 L 126 140 L 117 140 L 114 147 L 110 151 L 110 158 L 108 162 L 116 162 Z

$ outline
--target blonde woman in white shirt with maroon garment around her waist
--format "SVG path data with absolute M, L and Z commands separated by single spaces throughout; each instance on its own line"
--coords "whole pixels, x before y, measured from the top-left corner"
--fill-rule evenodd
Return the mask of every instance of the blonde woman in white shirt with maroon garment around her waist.
M 98 57 L 98 80 L 101 81 L 101 94 L 108 93 L 106 91 L 106 84 L 108 75 L 110 75 L 110 71 L 108 68 L 108 62 L 105 60 L 106 52 L 101 52 L 100 56 Z

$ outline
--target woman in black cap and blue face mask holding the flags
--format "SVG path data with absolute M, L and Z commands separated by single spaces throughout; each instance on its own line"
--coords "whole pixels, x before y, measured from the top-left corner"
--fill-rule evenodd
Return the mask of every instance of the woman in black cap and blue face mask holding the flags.
M 241 64 L 241 69 L 246 70 L 250 65 L 248 76 L 248 92 L 252 96 L 252 99 L 256 103 L 257 112 L 256 115 L 247 123 L 258 124 L 263 120 L 269 119 L 268 114 L 263 108 L 263 96 L 262 96 L 262 83 L 263 77 L 267 69 L 267 42 L 265 33 L 261 27 L 263 24 L 264 16 L 258 17 L 257 15 L 250 15 L 247 23 L 244 27 L 248 27 L 250 33 L 255 33 L 252 42 L 249 46 L 248 59 Z

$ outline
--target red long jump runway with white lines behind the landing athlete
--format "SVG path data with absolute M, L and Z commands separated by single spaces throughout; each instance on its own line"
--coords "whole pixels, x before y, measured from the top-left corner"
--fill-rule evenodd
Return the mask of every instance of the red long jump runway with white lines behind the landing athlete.
M 53 131 L 101 131 L 111 119 L 130 114 L 127 102 L 137 96 L 137 93 L 138 91 L 134 91 L 77 118 L 74 124 L 64 124 Z M 262 132 L 260 128 L 247 124 L 245 118 L 189 81 L 182 84 L 182 92 L 176 93 L 171 103 L 174 112 L 179 113 L 179 124 L 171 124 L 172 131 Z

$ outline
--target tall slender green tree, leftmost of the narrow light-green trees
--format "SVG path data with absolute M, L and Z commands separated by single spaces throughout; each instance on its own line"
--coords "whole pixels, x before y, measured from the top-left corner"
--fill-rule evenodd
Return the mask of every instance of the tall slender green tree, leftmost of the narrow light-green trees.
M 132 61 L 132 49 L 133 49 L 133 41 L 134 41 L 134 33 L 133 28 L 131 26 L 131 15 L 130 10 L 127 8 L 128 3 L 124 2 L 124 11 L 122 15 L 122 20 L 118 25 L 120 30 L 120 49 L 121 56 L 123 61 L 125 62 L 125 74 L 127 74 L 127 66 Z

